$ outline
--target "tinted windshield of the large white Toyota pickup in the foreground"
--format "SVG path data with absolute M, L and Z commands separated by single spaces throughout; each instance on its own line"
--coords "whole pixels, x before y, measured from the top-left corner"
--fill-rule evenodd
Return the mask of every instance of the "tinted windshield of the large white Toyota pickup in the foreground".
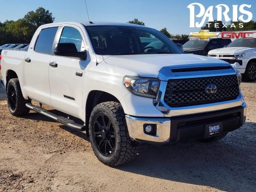
M 155 29 L 133 26 L 87 26 L 96 54 L 182 54 L 169 38 Z

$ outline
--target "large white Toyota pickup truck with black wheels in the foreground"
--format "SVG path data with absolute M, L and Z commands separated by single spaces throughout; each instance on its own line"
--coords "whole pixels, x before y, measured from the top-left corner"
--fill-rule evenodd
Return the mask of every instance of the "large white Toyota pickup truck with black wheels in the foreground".
M 3 50 L 1 65 L 12 115 L 34 110 L 86 131 L 109 166 L 131 161 L 139 143 L 214 141 L 245 122 L 241 76 L 229 63 L 184 54 L 145 26 L 43 25 L 27 52 Z

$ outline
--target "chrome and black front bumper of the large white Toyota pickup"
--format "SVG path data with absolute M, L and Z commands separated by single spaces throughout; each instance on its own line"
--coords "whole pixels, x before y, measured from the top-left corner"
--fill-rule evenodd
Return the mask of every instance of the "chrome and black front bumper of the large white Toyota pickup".
M 223 132 L 238 129 L 245 123 L 246 103 L 242 106 L 209 113 L 184 115 L 170 118 L 134 117 L 126 115 L 130 137 L 145 143 L 186 142 L 204 137 L 206 124 L 222 122 Z M 156 134 L 145 133 L 143 125 L 155 124 Z

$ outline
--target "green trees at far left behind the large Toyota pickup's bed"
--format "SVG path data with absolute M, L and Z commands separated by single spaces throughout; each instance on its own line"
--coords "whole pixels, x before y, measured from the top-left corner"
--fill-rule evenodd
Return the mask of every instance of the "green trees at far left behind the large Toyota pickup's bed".
M 49 10 L 39 7 L 36 11 L 29 11 L 17 21 L 6 20 L 0 22 L 0 45 L 6 43 L 30 43 L 36 29 L 46 23 L 52 23 L 54 18 Z

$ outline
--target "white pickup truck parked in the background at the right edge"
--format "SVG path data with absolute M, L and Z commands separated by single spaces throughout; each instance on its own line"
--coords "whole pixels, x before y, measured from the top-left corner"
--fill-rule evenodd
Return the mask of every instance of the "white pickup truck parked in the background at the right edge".
M 209 57 L 229 62 L 245 81 L 256 81 L 256 38 L 238 38 L 227 47 L 211 50 Z

